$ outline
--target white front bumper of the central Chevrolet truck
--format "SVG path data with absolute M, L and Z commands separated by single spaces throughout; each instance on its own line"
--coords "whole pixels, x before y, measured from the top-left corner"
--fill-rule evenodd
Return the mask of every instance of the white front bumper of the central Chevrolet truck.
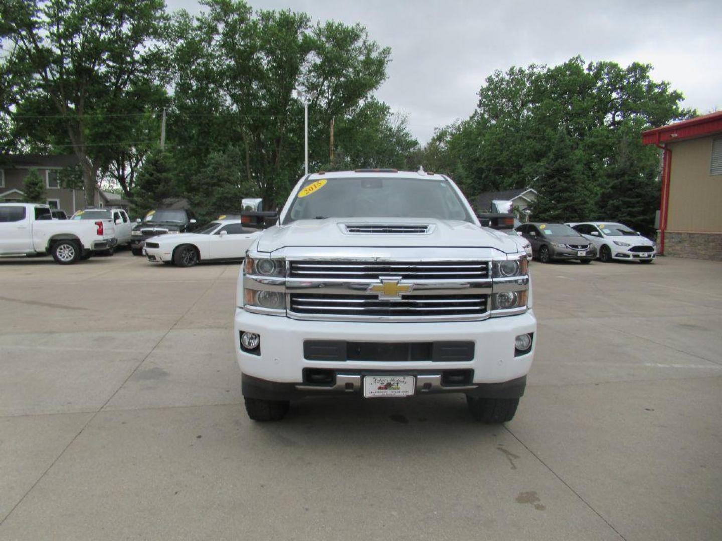
M 237 308 L 234 331 L 236 359 L 244 382 L 257 379 L 285 384 L 278 388 L 294 395 L 317 392 L 347 394 L 349 388 L 357 392 L 360 377 L 372 373 L 413 375 L 417 377 L 417 387 L 429 383 L 428 390 L 474 394 L 482 386 L 505 384 L 525 377 L 536 348 L 536 318 L 532 310 L 521 315 L 492 317 L 483 321 L 345 322 L 294 320 Z M 241 350 L 240 333 L 243 331 L 261 336 L 260 354 Z M 524 333 L 534 333 L 534 342 L 528 353 L 516 355 L 516 336 Z M 382 343 L 471 340 L 474 342 L 474 356 L 471 361 L 453 362 L 312 361 L 304 357 L 305 340 Z M 334 382 L 326 385 L 326 389 L 318 386 L 308 389 L 308 382 L 304 382 L 304 369 L 331 369 L 334 371 Z M 454 370 L 472 371 L 471 381 L 464 386 L 452 385 L 443 389 L 438 376 L 443 371 Z M 351 379 L 341 379 L 339 383 L 340 377 Z M 347 384 L 352 384 L 352 387 Z

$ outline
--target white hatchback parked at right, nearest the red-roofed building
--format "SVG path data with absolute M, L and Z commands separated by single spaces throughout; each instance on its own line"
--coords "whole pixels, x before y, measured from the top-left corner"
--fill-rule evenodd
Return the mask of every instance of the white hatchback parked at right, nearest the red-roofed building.
M 623 224 L 611 221 L 587 221 L 583 224 L 567 224 L 582 237 L 592 243 L 599 252 L 599 260 L 610 263 L 612 260 L 652 263 L 657 252 L 655 243 L 642 237 Z

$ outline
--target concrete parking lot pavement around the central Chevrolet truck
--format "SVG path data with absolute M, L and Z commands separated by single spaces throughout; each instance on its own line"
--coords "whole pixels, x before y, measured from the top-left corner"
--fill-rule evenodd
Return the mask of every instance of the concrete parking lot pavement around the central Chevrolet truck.
M 531 268 L 506 426 L 456 395 L 255 424 L 237 264 L 0 260 L 0 539 L 722 539 L 722 264 Z

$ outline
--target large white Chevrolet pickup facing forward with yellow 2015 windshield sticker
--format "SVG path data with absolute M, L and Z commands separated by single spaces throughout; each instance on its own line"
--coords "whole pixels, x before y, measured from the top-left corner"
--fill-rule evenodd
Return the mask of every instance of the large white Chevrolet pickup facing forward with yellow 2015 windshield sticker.
M 305 395 L 464 393 L 510 421 L 536 346 L 527 255 L 479 226 L 443 175 L 307 175 L 238 278 L 245 408 L 284 417 Z

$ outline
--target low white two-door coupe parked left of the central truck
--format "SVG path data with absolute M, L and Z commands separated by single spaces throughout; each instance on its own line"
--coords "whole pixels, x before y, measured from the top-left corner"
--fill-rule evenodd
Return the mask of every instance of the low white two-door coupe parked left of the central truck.
M 149 261 L 192 267 L 201 261 L 242 260 L 261 232 L 244 229 L 240 220 L 217 220 L 193 233 L 149 239 L 143 249 Z

